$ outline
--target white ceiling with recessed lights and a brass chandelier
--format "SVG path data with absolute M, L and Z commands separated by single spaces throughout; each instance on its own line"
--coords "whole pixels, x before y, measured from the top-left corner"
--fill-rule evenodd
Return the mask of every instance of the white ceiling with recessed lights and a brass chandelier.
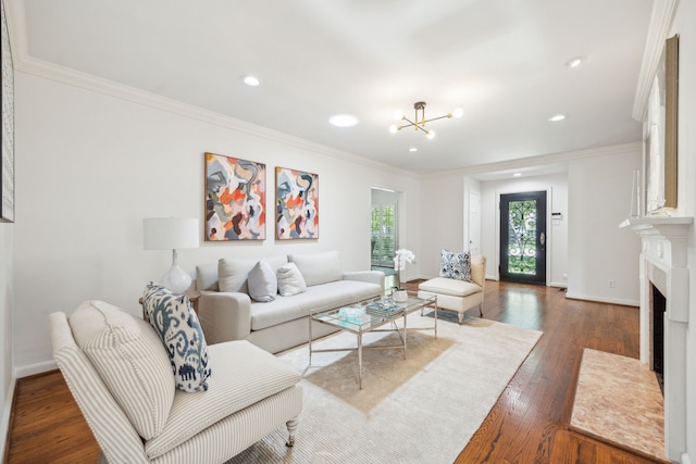
M 22 7 L 15 32 L 32 59 L 414 173 L 641 140 L 632 113 L 652 0 L 14 1 Z M 574 57 L 583 65 L 567 66 Z M 390 134 L 395 111 L 412 118 L 415 101 L 427 117 L 464 114 L 430 123 L 432 140 Z M 334 127 L 335 114 L 359 124 Z M 567 118 L 549 122 L 555 114 Z

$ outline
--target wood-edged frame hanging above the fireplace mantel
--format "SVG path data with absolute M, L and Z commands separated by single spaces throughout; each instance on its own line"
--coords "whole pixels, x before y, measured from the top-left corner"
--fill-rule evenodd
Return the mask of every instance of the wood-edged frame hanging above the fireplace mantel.
M 645 130 L 646 214 L 676 208 L 679 36 L 664 42 L 650 88 Z

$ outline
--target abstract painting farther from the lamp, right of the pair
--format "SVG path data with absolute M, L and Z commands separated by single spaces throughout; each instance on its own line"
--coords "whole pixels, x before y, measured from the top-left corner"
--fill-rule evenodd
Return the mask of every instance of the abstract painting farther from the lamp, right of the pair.
M 275 168 L 275 238 L 319 238 L 319 175 Z

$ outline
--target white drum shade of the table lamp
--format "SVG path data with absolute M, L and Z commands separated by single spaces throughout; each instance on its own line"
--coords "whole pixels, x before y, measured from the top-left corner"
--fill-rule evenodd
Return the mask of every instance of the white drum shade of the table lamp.
M 148 217 L 142 220 L 146 250 L 198 248 L 198 220 L 189 217 Z

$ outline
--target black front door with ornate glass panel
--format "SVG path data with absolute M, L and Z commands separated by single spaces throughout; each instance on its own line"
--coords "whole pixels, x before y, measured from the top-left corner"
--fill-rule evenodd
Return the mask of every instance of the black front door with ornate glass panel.
M 546 285 L 546 191 L 500 196 L 500 280 Z

